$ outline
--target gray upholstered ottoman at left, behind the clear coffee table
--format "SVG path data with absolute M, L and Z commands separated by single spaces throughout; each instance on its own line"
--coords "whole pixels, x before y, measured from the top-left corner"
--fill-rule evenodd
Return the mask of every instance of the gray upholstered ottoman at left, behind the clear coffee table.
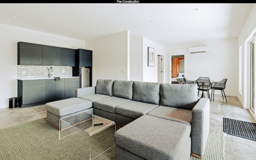
M 81 98 L 68 98 L 48 102 L 45 104 L 45 109 L 47 111 L 47 121 L 56 128 L 59 128 L 61 118 L 73 116 L 85 111 L 93 114 L 92 102 Z M 63 127 L 60 129 L 63 129 Z

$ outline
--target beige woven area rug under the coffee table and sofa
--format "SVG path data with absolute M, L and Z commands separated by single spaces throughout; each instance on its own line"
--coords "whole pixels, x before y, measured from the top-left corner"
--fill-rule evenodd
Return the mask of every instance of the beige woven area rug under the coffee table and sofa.
M 92 138 L 92 158 L 116 160 L 114 128 L 109 128 Z M 109 148 L 106 152 L 103 152 Z M 96 156 L 99 153 L 100 156 Z M 46 122 L 46 118 L 34 120 L 0 130 L 0 160 L 86 160 L 90 155 L 90 137 L 76 132 L 59 140 L 58 129 Z M 202 159 L 190 156 L 190 160 L 224 160 L 223 132 L 210 128 L 206 152 Z

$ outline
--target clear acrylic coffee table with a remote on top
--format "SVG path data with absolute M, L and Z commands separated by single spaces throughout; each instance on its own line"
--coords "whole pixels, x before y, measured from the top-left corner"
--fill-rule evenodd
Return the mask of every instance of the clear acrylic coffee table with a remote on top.
M 84 132 L 89 135 L 90 138 L 90 160 L 96 158 L 100 154 L 106 152 L 111 147 L 114 147 L 114 144 L 107 146 L 102 152 L 92 155 L 92 137 L 107 128 L 114 127 L 114 132 L 116 132 L 116 123 L 112 120 L 90 114 L 88 112 L 83 112 L 73 116 L 60 119 L 60 128 L 59 129 L 59 139 L 65 138 L 74 134 L 76 132 Z M 114 134 L 113 132 L 113 134 Z M 112 134 L 112 135 L 113 135 Z

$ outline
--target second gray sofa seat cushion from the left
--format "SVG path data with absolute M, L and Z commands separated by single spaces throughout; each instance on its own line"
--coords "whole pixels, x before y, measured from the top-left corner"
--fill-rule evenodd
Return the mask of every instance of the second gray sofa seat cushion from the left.
M 131 100 L 129 99 L 125 99 L 125 98 L 119 98 L 119 97 L 115 97 L 115 96 L 111 96 L 108 98 L 103 98 L 100 100 L 96 100 L 94 101 L 93 105 L 94 108 L 98 108 L 100 110 L 104 110 L 110 113 L 115 113 L 115 107 L 123 104 L 125 102 L 129 102 Z

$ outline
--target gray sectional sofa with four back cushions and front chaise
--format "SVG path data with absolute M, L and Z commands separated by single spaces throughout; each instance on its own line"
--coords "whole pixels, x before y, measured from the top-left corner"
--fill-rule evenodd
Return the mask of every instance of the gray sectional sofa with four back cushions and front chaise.
M 202 158 L 209 133 L 210 101 L 197 84 L 97 80 L 76 89 L 93 113 L 116 122 L 117 160 Z M 167 148 L 167 149 L 166 149 Z

